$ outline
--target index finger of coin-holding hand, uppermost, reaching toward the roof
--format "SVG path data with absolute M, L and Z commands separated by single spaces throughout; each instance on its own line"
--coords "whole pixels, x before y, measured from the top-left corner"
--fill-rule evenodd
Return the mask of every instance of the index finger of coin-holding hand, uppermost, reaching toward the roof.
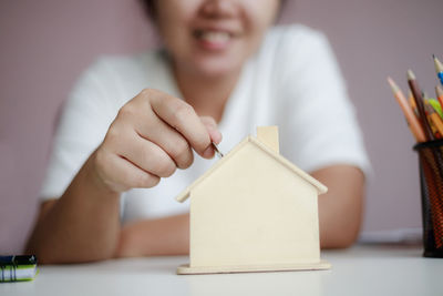
M 212 145 L 210 137 L 194 109 L 177 98 L 163 93 L 158 95 L 155 91 L 151 101 L 154 112 L 185 136 L 192 147 L 204 156 L 204 151 Z

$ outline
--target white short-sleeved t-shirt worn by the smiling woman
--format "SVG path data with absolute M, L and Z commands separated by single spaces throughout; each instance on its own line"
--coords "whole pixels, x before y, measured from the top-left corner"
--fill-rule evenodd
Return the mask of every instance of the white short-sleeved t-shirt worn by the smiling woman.
M 61 196 L 103 141 L 119 110 L 143 89 L 182 98 L 161 50 L 135 57 L 105 57 L 76 83 L 54 137 L 42 198 Z M 225 108 L 219 130 L 228 152 L 258 125 L 278 125 L 280 153 L 300 169 L 332 164 L 370 170 L 354 110 L 323 34 L 300 24 L 275 27 L 247 62 Z M 184 213 L 175 196 L 216 160 L 195 157 L 153 188 L 122 195 L 123 221 Z

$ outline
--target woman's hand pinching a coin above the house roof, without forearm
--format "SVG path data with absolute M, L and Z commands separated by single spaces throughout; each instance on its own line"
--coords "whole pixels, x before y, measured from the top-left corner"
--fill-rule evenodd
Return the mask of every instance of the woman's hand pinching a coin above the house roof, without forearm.
M 93 169 L 100 184 L 113 192 L 153 187 L 177 167 L 188 167 L 192 150 L 213 157 L 212 142 L 220 140 L 212 118 L 199 118 L 183 100 L 146 89 L 120 110 L 92 155 Z

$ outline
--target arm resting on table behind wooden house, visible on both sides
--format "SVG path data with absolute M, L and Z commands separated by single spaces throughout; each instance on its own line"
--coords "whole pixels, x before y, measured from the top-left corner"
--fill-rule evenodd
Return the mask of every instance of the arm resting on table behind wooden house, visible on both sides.
M 333 165 L 312 173 L 328 186 L 319 196 L 320 245 L 348 247 L 358 237 L 364 191 L 363 173 Z M 123 227 L 116 257 L 182 255 L 189 253 L 189 215 L 133 222 Z

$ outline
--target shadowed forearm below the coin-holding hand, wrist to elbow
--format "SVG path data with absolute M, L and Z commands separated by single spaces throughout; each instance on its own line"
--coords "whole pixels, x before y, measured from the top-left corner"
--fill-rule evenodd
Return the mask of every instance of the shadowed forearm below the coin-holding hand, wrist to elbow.
M 47 203 L 28 243 L 41 263 L 112 257 L 120 235 L 120 194 L 94 183 L 91 159 L 55 201 Z

